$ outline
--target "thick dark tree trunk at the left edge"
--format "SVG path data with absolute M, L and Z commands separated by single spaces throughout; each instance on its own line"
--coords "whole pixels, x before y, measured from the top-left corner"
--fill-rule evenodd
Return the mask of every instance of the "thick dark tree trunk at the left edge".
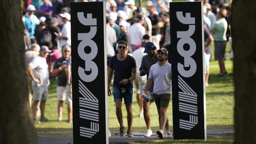
M 0 20 L 0 144 L 36 144 L 24 63 L 21 0 L 1 0 Z

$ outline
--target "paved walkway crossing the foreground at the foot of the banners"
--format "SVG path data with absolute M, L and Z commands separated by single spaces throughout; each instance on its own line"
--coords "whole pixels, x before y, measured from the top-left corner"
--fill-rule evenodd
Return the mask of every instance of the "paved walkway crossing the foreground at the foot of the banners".
M 235 134 L 233 129 L 217 129 L 217 130 L 207 130 L 207 136 L 214 135 L 233 135 Z M 172 138 L 165 138 L 172 139 Z M 159 137 L 152 135 L 150 137 L 144 137 L 143 133 L 136 133 L 134 137 L 128 138 L 127 136 L 111 136 L 109 138 L 109 144 L 132 144 L 134 142 L 140 141 L 152 141 L 159 140 Z M 38 144 L 73 144 L 73 137 L 62 137 L 62 138 L 38 138 Z

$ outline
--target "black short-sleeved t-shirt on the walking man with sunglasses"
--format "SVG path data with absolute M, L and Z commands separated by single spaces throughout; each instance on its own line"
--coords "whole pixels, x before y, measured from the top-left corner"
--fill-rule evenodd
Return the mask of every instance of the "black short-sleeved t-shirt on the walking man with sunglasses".
M 130 55 L 127 55 L 123 61 L 118 60 L 117 55 L 114 55 L 109 60 L 109 67 L 115 71 L 113 86 L 119 86 L 122 79 L 129 79 L 132 76 L 132 68 L 136 68 L 136 62 Z M 126 87 L 132 88 L 132 81 L 128 82 Z

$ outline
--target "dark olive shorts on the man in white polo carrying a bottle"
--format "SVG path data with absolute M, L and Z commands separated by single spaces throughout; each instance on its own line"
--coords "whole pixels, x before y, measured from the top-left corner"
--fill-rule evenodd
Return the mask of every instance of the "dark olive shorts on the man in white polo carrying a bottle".
M 158 95 L 158 94 L 153 93 L 157 109 L 168 108 L 171 95 L 172 94 L 160 94 L 160 95 Z

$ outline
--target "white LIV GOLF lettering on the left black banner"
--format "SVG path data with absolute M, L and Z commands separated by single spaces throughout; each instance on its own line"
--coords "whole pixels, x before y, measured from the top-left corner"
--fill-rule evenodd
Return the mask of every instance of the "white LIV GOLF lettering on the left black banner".
M 98 53 L 97 44 L 92 40 L 97 32 L 97 19 L 92 18 L 92 14 L 87 14 L 87 18 L 84 17 L 84 12 L 77 12 L 78 20 L 85 26 L 90 26 L 88 33 L 78 33 L 78 40 L 81 42 L 78 45 L 78 55 L 85 61 L 85 68 L 78 67 L 78 75 L 84 82 L 92 82 L 98 75 L 98 67 L 92 60 Z M 85 53 L 85 49 L 90 47 L 90 53 Z M 89 75 L 85 71 L 91 72 Z M 91 91 L 82 83 L 79 82 L 79 93 L 82 97 L 79 97 L 79 117 L 87 119 L 91 122 L 90 128 L 80 127 L 80 136 L 91 138 L 99 131 L 99 101 L 91 93 Z

